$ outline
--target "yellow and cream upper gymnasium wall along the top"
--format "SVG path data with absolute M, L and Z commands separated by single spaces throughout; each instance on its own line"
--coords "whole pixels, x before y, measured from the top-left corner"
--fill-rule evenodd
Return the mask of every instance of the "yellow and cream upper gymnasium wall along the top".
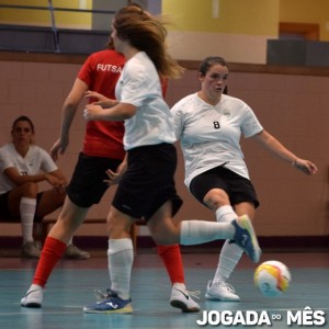
M 103 2 L 103 3 L 102 3 Z M 106 10 L 117 9 L 117 0 L 106 0 Z M 121 1 L 126 4 L 127 1 Z M 137 0 L 138 2 L 138 0 Z M 160 3 L 169 18 L 169 49 L 174 58 L 200 60 L 220 54 L 234 63 L 265 64 L 266 41 L 279 36 L 280 22 L 319 25 L 319 41 L 329 41 L 328 0 L 140 0 L 147 8 Z M 0 0 L 0 4 L 8 0 Z M 11 0 L 11 4 L 47 5 L 46 0 Z M 102 5 L 101 5 L 102 3 Z M 104 1 L 53 0 L 55 8 L 105 9 Z M 112 7 L 111 7 L 112 5 Z M 111 18 L 91 13 L 55 12 L 58 29 L 93 26 L 107 31 Z M 98 24 L 94 24 L 98 21 Z M 47 11 L 1 9 L 0 24 L 50 26 Z M 100 26 L 100 22 L 103 22 Z M 1 46 L 1 41 L 0 41 Z

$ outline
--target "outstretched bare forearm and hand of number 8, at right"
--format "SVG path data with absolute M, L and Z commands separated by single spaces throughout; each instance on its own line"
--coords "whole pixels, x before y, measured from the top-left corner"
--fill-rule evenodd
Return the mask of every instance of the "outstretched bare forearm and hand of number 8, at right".
M 272 152 L 280 159 L 291 163 L 293 167 L 299 169 L 304 173 L 313 174 L 317 172 L 317 167 L 313 162 L 298 158 L 266 131 L 260 132 L 259 134 L 253 136 L 253 138 L 270 152 Z

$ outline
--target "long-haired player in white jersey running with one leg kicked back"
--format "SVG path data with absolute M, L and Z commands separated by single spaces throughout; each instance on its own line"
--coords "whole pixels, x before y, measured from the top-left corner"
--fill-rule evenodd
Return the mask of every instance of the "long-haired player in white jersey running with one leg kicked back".
M 129 230 L 136 218 L 146 219 L 158 245 L 197 245 L 234 238 L 254 262 L 260 257 L 247 217 L 225 224 L 172 222 L 182 201 L 174 185 L 177 152 L 172 115 L 162 99 L 159 75 L 175 78 L 182 69 L 166 50 L 166 35 L 160 20 L 141 9 L 128 5 L 120 10 L 113 20 L 112 38 L 115 49 L 125 56 L 126 65 L 116 84 L 117 101 L 89 104 L 84 110 L 87 120 L 125 121 L 124 147 L 128 161 L 107 219 L 111 288 L 103 300 L 86 306 L 87 313 L 133 311 L 129 285 L 134 252 Z M 177 294 L 192 302 L 183 285 Z

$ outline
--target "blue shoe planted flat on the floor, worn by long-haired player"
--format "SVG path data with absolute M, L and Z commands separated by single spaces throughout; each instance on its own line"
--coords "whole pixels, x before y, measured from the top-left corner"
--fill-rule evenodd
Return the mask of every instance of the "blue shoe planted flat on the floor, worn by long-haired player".
M 107 290 L 106 294 L 103 294 L 100 291 L 95 291 L 95 294 L 98 297 L 100 297 L 100 300 L 87 305 L 83 307 L 84 313 L 102 313 L 102 314 L 132 314 L 133 307 L 132 307 L 132 299 L 122 299 L 117 296 L 116 293 L 112 292 L 111 290 Z

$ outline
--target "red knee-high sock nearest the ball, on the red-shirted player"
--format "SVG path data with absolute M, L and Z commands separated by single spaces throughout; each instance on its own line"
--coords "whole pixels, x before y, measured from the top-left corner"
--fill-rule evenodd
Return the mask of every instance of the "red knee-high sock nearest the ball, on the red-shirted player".
M 158 254 L 162 259 L 171 284 L 185 283 L 184 268 L 179 245 L 157 246 Z

